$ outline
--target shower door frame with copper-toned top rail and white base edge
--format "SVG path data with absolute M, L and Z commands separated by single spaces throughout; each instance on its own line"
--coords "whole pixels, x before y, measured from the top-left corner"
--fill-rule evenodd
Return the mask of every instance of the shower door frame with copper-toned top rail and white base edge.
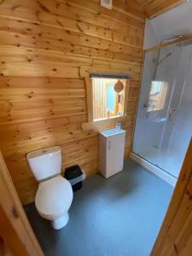
M 144 49 L 144 56 L 145 56 L 146 53 L 148 53 L 150 51 L 154 51 L 154 50 L 157 50 L 157 49 L 160 50 L 160 49 L 166 48 L 167 46 L 171 46 L 172 44 L 183 43 L 184 41 L 189 41 L 189 40 L 192 40 L 192 34 L 187 35 L 187 36 L 183 36 L 182 38 L 178 38 L 178 39 L 175 39 L 175 40 L 173 39 L 172 42 L 168 42 L 168 43 L 164 43 L 164 44 L 158 44 L 158 45 L 156 45 L 152 48 Z M 144 70 L 144 61 L 143 61 L 143 70 Z M 142 81 L 141 81 L 141 83 L 142 83 Z M 174 81 L 174 83 L 175 83 L 175 81 Z M 137 113 L 138 113 L 139 102 L 140 102 L 140 99 L 141 99 L 141 92 L 142 92 L 142 86 L 140 87 L 140 91 L 139 91 L 140 95 L 139 95 L 138 100 L 137 100 Z M 172 102 L 172 98 L 170 99 L 170 101 Z M 135 116 L 133 140 L 135 138 L 135 133 L 136 133 L 137 113 L 136 113 L 136 116 Z M 133 147 L 133 143 L 132 143 L 132 147 Z M 139 165 L 146 168 L 149 172 L 154 173 L 154 175 L 160 177 L 161 179 L 165 180 L 166 183 L 170 183 L 173 187 L 175 187 L 175 185 L 177 183 L 177 177 L 172 176 L 172 174 L 170 174 L 169 172 L 166 172 L 166 170 L 160 168 L 160 166 L 156 166 L 155 164 L 151 163 L 150 161 L 144 159 L 141 155 L 134 153 L 132 148 L 131 148 L 130 157 L 131 157 L 132 160 L 135 160 Z

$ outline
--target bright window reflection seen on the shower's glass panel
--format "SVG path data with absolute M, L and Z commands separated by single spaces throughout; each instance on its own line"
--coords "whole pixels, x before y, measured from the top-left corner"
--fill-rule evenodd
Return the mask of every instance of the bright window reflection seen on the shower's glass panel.
M 162 81 L 152 81 L 148 97 L 147 111 L 156 111 L 165 108 L 166 91 L 168 83 Z

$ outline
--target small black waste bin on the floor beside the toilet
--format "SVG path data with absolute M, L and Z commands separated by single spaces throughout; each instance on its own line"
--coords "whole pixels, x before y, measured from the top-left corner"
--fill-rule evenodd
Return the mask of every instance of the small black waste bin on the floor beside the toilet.
M 70 166 L 66 168 L 64 177 L 71 183 L 73 191 L 77 191 L 82 188 L 85 173 L 78 165 Z

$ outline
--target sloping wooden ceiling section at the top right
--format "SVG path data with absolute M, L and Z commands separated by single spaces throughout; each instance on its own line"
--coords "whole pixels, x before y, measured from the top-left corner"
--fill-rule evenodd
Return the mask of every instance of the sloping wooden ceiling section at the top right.
M 113 0 L 113 6 L 141 18 L 153 18 L 184 2 L 186 0 Z

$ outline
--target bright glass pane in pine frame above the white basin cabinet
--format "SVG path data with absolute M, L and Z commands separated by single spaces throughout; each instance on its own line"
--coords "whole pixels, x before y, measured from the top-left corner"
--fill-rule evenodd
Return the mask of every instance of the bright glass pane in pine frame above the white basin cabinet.
M 125 115 L 127 79 L 92 78 L 93 121 Z

